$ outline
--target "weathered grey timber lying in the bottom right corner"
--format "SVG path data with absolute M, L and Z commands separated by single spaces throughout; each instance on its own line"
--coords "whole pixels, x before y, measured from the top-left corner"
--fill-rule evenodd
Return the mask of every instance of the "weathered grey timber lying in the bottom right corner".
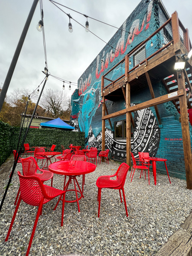
M 155 256 L 190 256 L 191 248 L 192 235 L 181 228 L 169 237 Z

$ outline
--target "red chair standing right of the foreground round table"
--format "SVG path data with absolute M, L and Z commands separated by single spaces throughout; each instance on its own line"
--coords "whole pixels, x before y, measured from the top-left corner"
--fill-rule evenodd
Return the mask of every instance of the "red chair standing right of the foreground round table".
M 125 192 L 124 192 L 124 184 L 125 184 L 125 179 L 127 176 L 129 166 L 126 163 L 122 163 L 117 172 L 114 175 L 106 175 L 106 176 L 100 176 L 97 181 L 96 185 L 98 187 L 98 196 L 97 196 L 97 201 L 99 201 L 99 207 L 98 207 L 98 218 L 100 214 L 100 204 L 101 204 L 101 190 L 106 188 L 106 189 L 119 189 L 119 195 L 121 198 L 121 203 L 122 203 L 122 197 L 121 197 L 121 190 L 123 194 L 123 200 L 125 204 L 125 212 L 128 217 L 128 212 L 127 212 L 127 204 L 125 200 Z M 115 177 L 115 180 L 111 180 L 111 177 Z

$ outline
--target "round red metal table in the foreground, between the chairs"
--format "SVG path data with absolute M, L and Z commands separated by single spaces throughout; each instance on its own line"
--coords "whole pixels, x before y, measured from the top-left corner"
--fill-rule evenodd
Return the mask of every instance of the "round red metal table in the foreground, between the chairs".
M 76 200 L 65 201 L 65 202 L 67 202 L 67 203 L 77 202 L 79 212 L 80 212 L 79 200 L 84 196 L 83 196 L 83 193 L 82 193 L 81 188 L 79 186 L 79 183 L 76 179 L 76 176 L 85 175 L 87 173 L 94 172 L 95 169 L 96 169 L 96 165 L 94 165 L 93 163 L 84 162 L 84 161 L 75 161 L 75 160 L 59 161 L 59 162 L 55 162 L 55 163 L 52 163 L 52 164 L 49 165 L 49 171 L 50 172 L 53 172 L 53 173 L 59 174 L 59 175 L 69 176 L 69 180 L 67 181 L 66 185 L 65 185 L 65 181 L 64 181 L 64 191 L 66 191 L 66 192 L 67 191 L 75 191 Z M 65 180 L 66 180 L 66 176 L 65 176 Z M 71 180 L 73 180 L 73 182 L 74 182 L 74 189 L 68 189 L 68 186 L 69 186 Z M 77 190 L 76 184 L 77 184 L 79 190 Z M 79 198 L 78 198 L 77 192 L 79 192 L 81 194 Z M 59 200 L 58 200 L 58 202 L 55 206 L 55 209 L 56 209 L 60 200 L 62 200 L 62 199 L 59 198 Z

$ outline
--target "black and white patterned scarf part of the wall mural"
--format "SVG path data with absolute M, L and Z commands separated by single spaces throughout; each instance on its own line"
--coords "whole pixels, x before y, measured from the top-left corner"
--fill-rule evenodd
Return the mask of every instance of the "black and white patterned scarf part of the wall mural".
M 72 124 L 78 131 L 78 119 L 73 119 Z M 148 152 L 151 157 L 157 154 L 160 143 L 160 128 L 150 108 L 134 112 L 134 139 L 131 140 L 131 151 L 135 157 L 138 152 Z M 95 137 L 92 127 L 88 133 L 89 147 L 102 148 L 102 131 Z M 111 156 L 117 159 L 126 158 L 126 140 L 114 140 L 113 131 L 105 128 L 105 149 L 109 149 Z

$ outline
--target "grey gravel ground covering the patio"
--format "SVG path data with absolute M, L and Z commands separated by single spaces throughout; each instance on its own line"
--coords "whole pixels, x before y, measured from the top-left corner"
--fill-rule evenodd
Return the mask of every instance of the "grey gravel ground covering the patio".
M 192 210 L 192 191 L 186 189 L 186 181 L 157 174 L 157 186 L 154 186 L 152 172 L 151 183 L 136 170 L 132 182 L 130 171 L 125 182 L 125 206 L 120 202 L 119 191 L 102 189 L 100 218 L 97 217 L 96 179 L 100 175 L 111 175 L 119 164 L 113 161 L 101 163 L 96 171 L 85 176 L 84 198 L 76 203 L 66 203 L 64 225 L 61 227 L 61 203 L 55 211 L 57 198 L 45 204 L 30 249 L 30 256 L 60 256 L 68 254 L 97 256 L 155 255 L 168 238 L 180 228 Z M 14 201 L 19 187 L 17 164 L 11 186 L 0 212 L 0 255 L 25 255 L 37 207 L 21 202 L 15 223 L 5 242 L 6 234 L 15 210 Z M 0 191 L 3 197 L 9 175 Z M 82 177 L 78 177 L 81 186 Z M 53 186 L 62 189 L 64 177 L 54 175 Z M 45 182 L 50 185 L 50 181 Z M 72 192 L 66 194 L 72 197 Z

